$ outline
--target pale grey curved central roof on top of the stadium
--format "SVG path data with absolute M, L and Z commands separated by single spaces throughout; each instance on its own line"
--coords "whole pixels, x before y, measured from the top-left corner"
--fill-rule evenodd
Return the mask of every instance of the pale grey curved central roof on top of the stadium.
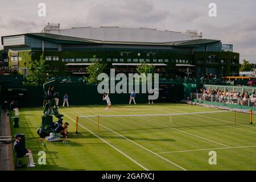
M 77 27 L 60 29 L 58 31 L 48 30 L 46 32 L 84 39 L 101 40 L 104 42 L 162 43 L 201 38 L 200 35 L 191 35 L 175 31 L 127 27 Z

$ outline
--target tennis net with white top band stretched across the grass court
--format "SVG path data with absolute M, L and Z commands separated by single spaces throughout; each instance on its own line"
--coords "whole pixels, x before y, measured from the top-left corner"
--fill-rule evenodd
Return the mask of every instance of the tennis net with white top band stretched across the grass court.
M 80 127 L 92 132 L 161 130 L 170 128 L 198 127 L 199 129 L 214 126 L 250 126 L 253 123 L 250 114 L 238 113 L 236 110 L 206 111 L 198 113 L 170 114 L 120 114 L 120 115 L 77 115 L 76 133 Z

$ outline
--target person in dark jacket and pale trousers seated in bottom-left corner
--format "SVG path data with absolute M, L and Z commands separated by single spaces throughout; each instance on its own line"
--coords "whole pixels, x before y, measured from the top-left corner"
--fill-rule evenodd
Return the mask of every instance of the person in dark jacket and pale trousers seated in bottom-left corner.
M 34 159 L 33 159 L 33 155 L 32 155 L 32 151 L 27 149 L 27 148 L 23 148 L 22 145 L 20 144 L 20 140 L 22 139 L 22 135 L 17 134 L 15 135 L 15 142 L 14 142 L 14 150 L 16 151 L 16 155 L 18 158 L 22 158 L 24 156 L 28 156 L 28 167 L 35 167 L 35 163 L 34 163 Z

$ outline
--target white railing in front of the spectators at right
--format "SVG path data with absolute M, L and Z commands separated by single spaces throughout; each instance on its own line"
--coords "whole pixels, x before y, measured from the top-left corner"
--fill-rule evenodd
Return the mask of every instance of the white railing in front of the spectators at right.
M 209 102 L 220 102 L 224 104 L 233 104 L 233 105 L 243 105 L 243 106 L 256 106 L 256 99 L 254 98 L 241 98 L 241 97 L 228 97 L 228 96 L 220 96 L 220 95 L 212 95 L 205 93 L 191 93 L 192 99 L 196 99 L 199 101 L 209 101 Z

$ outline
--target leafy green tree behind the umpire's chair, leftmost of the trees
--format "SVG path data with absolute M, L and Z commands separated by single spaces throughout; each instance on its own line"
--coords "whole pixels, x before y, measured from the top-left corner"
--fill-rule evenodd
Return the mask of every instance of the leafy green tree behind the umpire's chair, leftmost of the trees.
M 27 81 L 25 85 L 39 86 L 46 82 L 46 60 L 44 60 L 44 54 L 40 56 L 40 60 L 32 61 L 30 67 L 30 74 L 26 76 Z

